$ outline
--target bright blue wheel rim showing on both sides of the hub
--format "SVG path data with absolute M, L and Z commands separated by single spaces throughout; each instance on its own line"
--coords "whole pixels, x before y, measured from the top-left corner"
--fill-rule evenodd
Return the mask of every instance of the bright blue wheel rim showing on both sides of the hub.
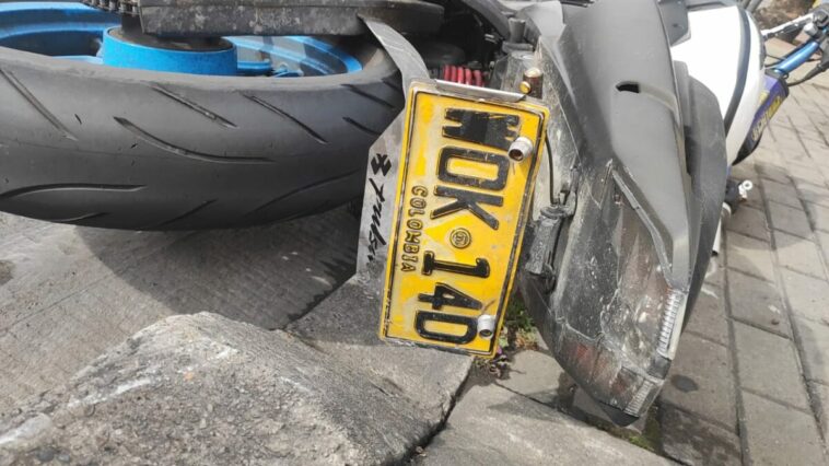
M 81 3 L 0 3 L 0 47 L 103 66 L 98 53 L 103 36 L 119 24 L 117 14 Z M 348 51 L 315 37 L 224 38 L 234 45 L 237 75 L 292 78 L 352 73 L 362 69 L 360 61 Z M 175 71 L 182 72 L 180 69 Z M 191 72 L 205 74 L 198 70 Z

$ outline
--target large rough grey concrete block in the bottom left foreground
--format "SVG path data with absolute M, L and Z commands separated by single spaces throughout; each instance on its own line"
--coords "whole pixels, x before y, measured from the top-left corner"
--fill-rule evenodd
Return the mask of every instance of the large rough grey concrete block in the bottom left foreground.
M 398 462 L 441 417 L 373 378 L 281 330 L 168 317 L 0 418 L 0 464 Z

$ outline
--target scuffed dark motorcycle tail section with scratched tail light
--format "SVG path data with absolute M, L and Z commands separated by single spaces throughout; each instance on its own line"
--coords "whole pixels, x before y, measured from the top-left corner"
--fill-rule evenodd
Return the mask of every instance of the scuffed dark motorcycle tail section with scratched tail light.
M 559 363 L 627 424 L 659 393 L 708 267 L 723 120 L 672 61 L 656 2 L 558 8 L 554 27 L 545 7 L 524 12 L 544 98 L 561 109 L 549 150 L 567 182 L 528 231 L 519 286 Z

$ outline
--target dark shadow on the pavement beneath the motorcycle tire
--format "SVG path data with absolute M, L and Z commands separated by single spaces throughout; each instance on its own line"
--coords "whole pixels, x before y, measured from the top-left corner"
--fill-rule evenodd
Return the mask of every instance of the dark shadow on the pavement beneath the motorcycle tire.
M 173 314 L 211 312 L 275 329 L 353 273 L 358 222 L 338 209 L 289 223 L 194 232 L 127 268 L 118 243 L 135 232 L 78 229 L 78 234 L 124 283 Z

